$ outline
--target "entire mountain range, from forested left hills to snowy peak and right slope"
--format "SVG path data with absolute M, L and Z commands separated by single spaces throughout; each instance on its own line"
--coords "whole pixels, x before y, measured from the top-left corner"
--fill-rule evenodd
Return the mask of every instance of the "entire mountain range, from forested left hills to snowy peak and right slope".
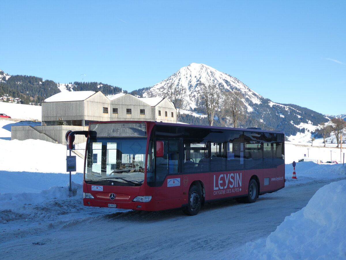
M 17 81 L 13 80 L 14 78 L 9 80 L 10 77 L 19 79 L 22 76 L 10 76 L 0 70 L 0 90 L 1 86 L 6 85 L 9 81 L 12 81 L 12 84 L 17 88 L 17 91 L 23 87 L 23 84 L 18 82 L 18 79 Z M 30 77 L 33 76 L 26 76 L 26 78 Z M 44 85 L 42 78 L 33 78 L 35 80 L 30 82 L 32 89 Z M 303 123 L 318 125 L 321 122 L 327 122 L 329 120 L 324 115 L 305 107 L 293 104 L 274 103 L 270 99 L 264 98 L 260 94 L 254 92 L 239 79 L 200 63 L 191 63 L 186 67 L 180 68 L 177 72 L 162 80 L 160 83 L 151 87 L 134 90 L 130 92 L 130 94 L 143 97 L 168 97 L 170 90 L 176 88 L 177 90 L 183 90 L 185 92 L 183 97 L 184 102 L 181 104 L 180 108 L 190 111 L 204 112 L 200 98 L 202 84 L 216 85 L 223 92 L 238 90 L 243 94 L 244 103 L 247 109 L 247 118 L 241 127 L 261 127 L 270 130 L 280 130 L 284 131 L 286 135 L 289 136 L 295 135 L 298 131 L 304 131 L 301 126 Z M 119 87 L 103 83 L 74 82 L 69 84 L 56 84 L 54 81 L 49 80 L 49 93 L 78 90 L 101 90 L 106 95 L 116 94 L 119 92 L 127 93 L 126 90 L 122 90 Z M 27 91 L 27 93 L 29 91 Z M 41 91 L 42 95 L 49 97 L 47 96 L 48 93 L 44 94 L 43 89 L 35 91 Z M 46 92 L 47 91 L 48 89 L 46 89 Z M 35 95 L 38 96 L 38 93 L 31 93 L 31 96 L 35 97 Z M 43 96 L 40 98 L 42 100 L 45 97 Z M 189 123 L 192 120 L 190 115 L 183 116 L 182 118 L 184 118 L 183 122 L 185 123 Z M 193 121 L 195 122 L 195 119 L 193 119 Z M 200 124 L 206 124 L 205 122 L 205 120 L 201 120 Z M 217 119 L 215 123 L 216 125 L 220 125 L 220 122 L 218 122 Z

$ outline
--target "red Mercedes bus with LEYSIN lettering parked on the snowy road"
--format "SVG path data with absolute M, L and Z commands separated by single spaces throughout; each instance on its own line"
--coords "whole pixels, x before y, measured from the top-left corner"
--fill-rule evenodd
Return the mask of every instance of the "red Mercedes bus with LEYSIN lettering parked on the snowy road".
M 206 201 L 252 203 L 284 188 L 284 133 L 148 121 L 93 122 L 83 182 L 85 206 L 196 215 Z

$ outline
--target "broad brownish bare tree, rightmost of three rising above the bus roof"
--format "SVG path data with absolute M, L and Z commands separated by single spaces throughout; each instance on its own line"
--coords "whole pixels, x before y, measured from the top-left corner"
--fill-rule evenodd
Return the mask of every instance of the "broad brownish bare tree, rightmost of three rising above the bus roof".
M 233 91 L 224 94 L 220 110 L 220 121 L 225 126 L 239 127 L 245 119 L 246 106 L 241 92 Z

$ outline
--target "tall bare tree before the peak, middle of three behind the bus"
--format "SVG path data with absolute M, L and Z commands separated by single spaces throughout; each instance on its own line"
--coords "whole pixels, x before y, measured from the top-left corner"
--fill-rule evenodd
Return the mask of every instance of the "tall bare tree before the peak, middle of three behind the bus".
M 216 110 L 219 109 L 222 95 L 220 89 L 216 85 L 206 86 L 201 84 L 201 99 L 206 106 L 209 125 L 213 125 Z

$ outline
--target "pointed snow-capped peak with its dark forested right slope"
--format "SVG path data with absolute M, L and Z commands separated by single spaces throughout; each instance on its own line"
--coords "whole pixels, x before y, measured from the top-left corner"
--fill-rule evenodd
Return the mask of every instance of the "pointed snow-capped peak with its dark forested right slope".
M 242 93 L 247 108 L 247 118 L 241 127 L 261 127 L 284 131 L 286 135 L 295 135 L 302 131 L 302 127 L 299 126 L 301 124 L 318 125 L 328 121 L 324 115 L 316 111 L 293 104 L 274 103 L 254 92 L 239 79 L 205 64 L 191 63 L 160 83 L 136 92 L 146 97 L 169 96 L 172 89 L 177 89 L 185 93 L 181 108 L 198 110 L 201 104 L 202 84 L 215 85 L 221 92 L 237 90 Z

